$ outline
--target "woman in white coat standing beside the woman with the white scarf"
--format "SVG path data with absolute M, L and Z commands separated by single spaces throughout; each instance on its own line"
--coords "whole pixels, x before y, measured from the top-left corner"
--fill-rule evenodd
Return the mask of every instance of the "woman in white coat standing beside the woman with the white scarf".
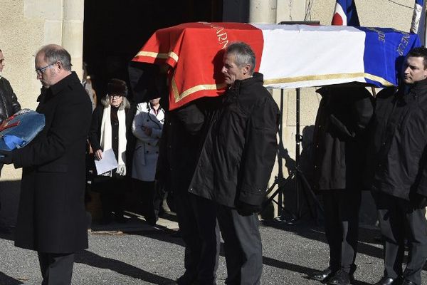
M 164 110 L 159 100 L 160 98 L 156 98 L 148 103 L 139 103 L 132 123 L 132 133 L 137 138 L 132 178 L 135 189 L 142 193 L 142 212 L 145 220 L 152 225 L 157 222 L 157 213 L 154 211 L 154 176 L 164 123 Z

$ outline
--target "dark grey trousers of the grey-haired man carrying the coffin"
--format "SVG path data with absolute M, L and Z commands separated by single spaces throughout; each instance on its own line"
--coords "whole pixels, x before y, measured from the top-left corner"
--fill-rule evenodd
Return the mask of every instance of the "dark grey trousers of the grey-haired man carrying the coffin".
M 226 284 L 260 284 L 263 248 L 258 215 L 242 216 L 236 209 L 218 205 L 218 223 L 226 255 Z

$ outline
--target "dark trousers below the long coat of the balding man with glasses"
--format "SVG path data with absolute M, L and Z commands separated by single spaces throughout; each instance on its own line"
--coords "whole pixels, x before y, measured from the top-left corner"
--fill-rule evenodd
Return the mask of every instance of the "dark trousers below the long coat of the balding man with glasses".
M 73 275 L 74 254 L 37 252 L 40 262 L 41 285 L 69 285 Z

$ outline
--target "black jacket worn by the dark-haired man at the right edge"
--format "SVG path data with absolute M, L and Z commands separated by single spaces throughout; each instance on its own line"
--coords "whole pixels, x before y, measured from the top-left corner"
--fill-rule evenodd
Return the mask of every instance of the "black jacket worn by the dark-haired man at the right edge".
M 365 173 L 367 187 L 403 199 L 409 199 L 411 192 L 427 196 L 426 119 L 426 79 L 378 93 Z

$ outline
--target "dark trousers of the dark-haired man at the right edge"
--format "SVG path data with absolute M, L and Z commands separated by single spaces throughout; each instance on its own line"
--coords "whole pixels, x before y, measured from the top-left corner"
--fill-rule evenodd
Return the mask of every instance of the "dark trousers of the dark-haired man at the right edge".
M 373 194 L 379 226 L 384 239 L 384 276 L 421 284 L 421 270 L 427 259 L 427 220 L 425 209 L 413 209 L 409 201 L 376 192 Z M 405 239 L 408 262 L 402 272 Z

